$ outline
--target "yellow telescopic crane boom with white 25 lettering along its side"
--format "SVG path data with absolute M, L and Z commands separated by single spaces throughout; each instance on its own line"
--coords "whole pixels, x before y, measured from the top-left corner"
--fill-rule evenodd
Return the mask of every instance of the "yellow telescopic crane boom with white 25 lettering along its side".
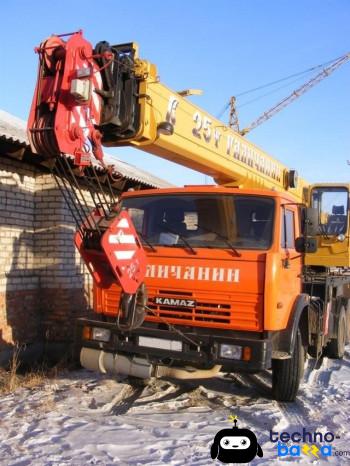
M 137 46 L 132 44 L 133 50 Z M 302 200 L 306 181 L 238 132 L 159 82 L 157 68 L 135 58 L 140 125 L 129 139 L 108 138 L 106 146 L 131 145 L 212 176 L 220 185 L 288 190 Z

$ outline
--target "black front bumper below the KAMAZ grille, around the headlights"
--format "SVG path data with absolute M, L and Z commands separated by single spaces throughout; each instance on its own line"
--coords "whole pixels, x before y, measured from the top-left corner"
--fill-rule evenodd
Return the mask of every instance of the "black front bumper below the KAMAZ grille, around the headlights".
M 82 339 L 83 327 L 107 328 L 111 331 L 108 342 Z M 78 320 L 79 344 L 111 354 L 137 356 L 155 364 L 191 365 L 197 368 L 222 366 L 223 372 L 258 372 L 271 368 L 271 340 L 264 334 L 230 330 L 206 330 L 197 333 L 196 328 L 179 328 L 182 334 L 152 326 L 142 326 L 123 332 L 115 324 L 88 319 Z M 210 333 L 209 333 L 210 332 Z M 173 340 L 182 343 L 182 351 L 150 348 L 139 345 L 139 337 Z M 231 360 L 220 357 L 220 345 L 230 344 L 250 348 L 249 360 Z

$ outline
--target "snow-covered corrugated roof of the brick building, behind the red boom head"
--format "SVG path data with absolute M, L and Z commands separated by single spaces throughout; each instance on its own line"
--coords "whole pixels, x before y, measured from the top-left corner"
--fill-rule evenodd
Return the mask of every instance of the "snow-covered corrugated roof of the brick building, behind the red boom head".
M 29 141 L 26 132 L 26 122 L 11 113 L 0 110 L 0 139 L 22 146 L 29 147 Z M 167 188 L 173 186 L 171 183 L 152 175 L 151 173 L 141 170 L 129 163 L 119 160 L 114 155 L 105 154 L 105 161 L 112 165 L 117 173 L 122 174 L 125 178 L 144 183 L 155 188 Z

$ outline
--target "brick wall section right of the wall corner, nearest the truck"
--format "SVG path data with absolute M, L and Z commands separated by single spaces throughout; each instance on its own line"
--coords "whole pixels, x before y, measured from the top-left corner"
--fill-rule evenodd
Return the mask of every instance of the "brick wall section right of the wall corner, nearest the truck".
M 69 208 L 51 175 L 36 176 L 34 199 L 34 268 L 40 282 L 42 331 L 49 340 L 64 341 L 72 337 L 75 319 L 92 307 L 92 280 L 74 246 Z

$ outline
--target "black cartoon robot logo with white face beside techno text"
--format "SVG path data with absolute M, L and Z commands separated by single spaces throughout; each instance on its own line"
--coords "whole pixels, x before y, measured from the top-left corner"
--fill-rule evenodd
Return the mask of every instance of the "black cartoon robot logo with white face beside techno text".
M 237 417 L 230 416 L 235 425 L 220 430 L 214 438 L 210 454 L 222 463 L 249 463 L 256 455 L 262 458 L 263 451 L 256 435 L 249 429 L 237 427 Z

